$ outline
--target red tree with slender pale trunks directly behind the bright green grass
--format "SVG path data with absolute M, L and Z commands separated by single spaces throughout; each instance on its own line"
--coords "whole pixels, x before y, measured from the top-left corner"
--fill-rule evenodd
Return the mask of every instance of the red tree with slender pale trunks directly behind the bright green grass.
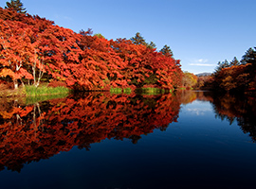
M 46 71 L 51 77 L 65 81 L 68 86 L 77 82 L 71 73 L 74 72 L 72 70 L 79 69 L 79 57 L 82 53 L 77 43 L 79 39 L 79 35 L 71 29 L 60 26 L 48 26 L 38 35 L 34 43 L 38 61 L 33 67 L 39 70 L 39 81 Z M 38 84 L 37 81 L 36 85 Z

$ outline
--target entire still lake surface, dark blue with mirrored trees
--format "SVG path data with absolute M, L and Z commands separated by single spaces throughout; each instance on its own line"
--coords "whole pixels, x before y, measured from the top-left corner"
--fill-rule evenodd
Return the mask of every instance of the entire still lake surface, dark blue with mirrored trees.
M 0 188 L 255 188 L 256 99 L 209 92 L 0 102 Z

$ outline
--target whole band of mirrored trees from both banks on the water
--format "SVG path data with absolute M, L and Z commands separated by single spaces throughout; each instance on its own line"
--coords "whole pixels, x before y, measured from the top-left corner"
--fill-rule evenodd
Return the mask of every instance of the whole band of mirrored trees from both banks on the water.
M 105 139 L 137 144 L 142 134 L 167 129 L 177 121 L 180 105 L 194 100 L 210 101 L 217 118 L 230 124 L 237 120 L 255 141 L 255 98 L 180 91 L 144 96 L 82 94 L 32 105 L 9 101 L 0 104 L 0 169 L 19 172 L 24 163 L 48 159 L 73 146 L 89 150 Z

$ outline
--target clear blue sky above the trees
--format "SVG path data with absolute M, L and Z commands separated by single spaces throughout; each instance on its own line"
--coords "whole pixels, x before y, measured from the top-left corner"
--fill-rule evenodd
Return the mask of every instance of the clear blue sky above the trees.
M 9 0 L 10 1 L 10 0 Z M 7 0 L 0 0 L 0 7 Z M 213 72 L 218 61 L 241 60 L 256 46 L 255 0 L 21 0 L 29 14 L 107 39 L 139 32 L 157 50 L 165 44 L 182 70 Z

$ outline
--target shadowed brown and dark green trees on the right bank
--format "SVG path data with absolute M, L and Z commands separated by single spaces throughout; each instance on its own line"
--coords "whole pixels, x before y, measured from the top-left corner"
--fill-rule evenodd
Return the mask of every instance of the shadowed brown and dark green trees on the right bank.
M 223 92 L 255 92 L 256 47 L 249 48 L 242 60 L 219 61 L 211 76 L 197 78 L 197 88 Z

